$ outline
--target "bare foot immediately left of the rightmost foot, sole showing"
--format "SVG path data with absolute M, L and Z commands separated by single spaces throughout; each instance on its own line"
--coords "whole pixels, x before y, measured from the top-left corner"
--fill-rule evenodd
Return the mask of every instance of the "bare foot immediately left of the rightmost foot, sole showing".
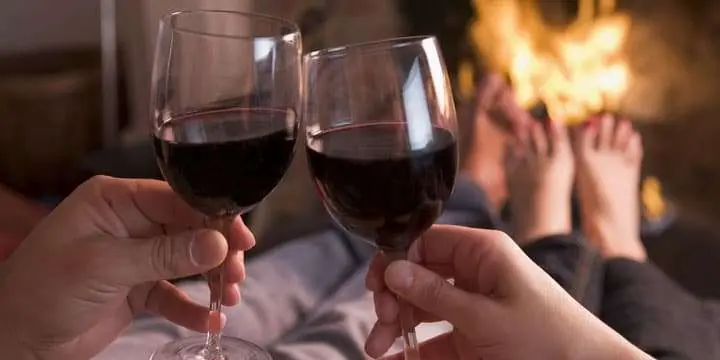
M 520 245 L 572 231 L 574 161 L 567 131 L 553 124 L 546 132 L 535 123 L 528 132 L 527 144 L 511 151 L 507 165 L 511 225 Z

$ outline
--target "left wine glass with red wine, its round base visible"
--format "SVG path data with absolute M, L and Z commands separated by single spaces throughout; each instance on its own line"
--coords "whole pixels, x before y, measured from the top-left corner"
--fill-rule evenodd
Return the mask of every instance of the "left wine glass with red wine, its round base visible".
M 298 27 L 259 14 L 182 11 L 162 18 L 152 79 L 152 137 L 173 190 L 222 231 L 280 182 L 301 105 Z M 221 338 L 222 266 L 206 274 L 211 330 L 152 360 L 269 359 Z

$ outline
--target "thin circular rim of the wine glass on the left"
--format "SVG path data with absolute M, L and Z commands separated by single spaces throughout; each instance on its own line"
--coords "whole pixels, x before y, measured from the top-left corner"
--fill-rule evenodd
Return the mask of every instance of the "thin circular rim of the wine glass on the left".
M 222 15 L 234 15 L 238 17 L 244 17 L 250 20 L 262 20 L 269 24 L 278 24 L 278 25 L 284 25 L 287 26 L 288 29 L 290 29 L 287 32 L 284 32 L 282 34 L 278 35 L 269 35 L 269 36 L 253 36 L 253 35 L 237 35 L 237 34 L 221 34 L 216 32 L 207 32 L 207 31 L 199 31 L 199 30 L 192 30 L 184 27 L 178 27 L 175 24 L 172 23 L 173 19 L 180 18 L 181 16 L 185 15 L 201 15 L 201 14 L 222 14 Z M 167 25 L 173 32 L 178 33 L 186 33 L 186 34 L 192 34 L 192 35 L 199 35 L 199 36 L 211 36 L 211 37 L 218 37 L 218 38 L 228 38 L 228 39 L 238 39 L 238 40 L 252 40 L 259 37 L 262 38 L 272 38 L 272 39 L 285 39 L 288 35 L 300 35 L 300 27 L 287 19 L 278 17 L 278 16 L 272 16 L 267 14 L 261 14 L 261 13 L 255 13 L 255 12 L 248 12 L 248 11 L 235 11 L 235 10 L 212 10 L 212 9 L 194 9 L 194 10 L 179 10 L 179 11 L 173 11 L 171 13 L 165 14 L 160 18 L 160 22 Z

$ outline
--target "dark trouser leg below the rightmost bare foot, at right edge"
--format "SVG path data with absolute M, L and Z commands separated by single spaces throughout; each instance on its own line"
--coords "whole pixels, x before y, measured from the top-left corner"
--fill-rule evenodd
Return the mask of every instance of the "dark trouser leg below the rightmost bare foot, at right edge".
M 713 276 L 712 274 L 707 274 Z M 720 359 L 720 307 L 649 263 L 606 263 L 601 318 L 657 359 Z

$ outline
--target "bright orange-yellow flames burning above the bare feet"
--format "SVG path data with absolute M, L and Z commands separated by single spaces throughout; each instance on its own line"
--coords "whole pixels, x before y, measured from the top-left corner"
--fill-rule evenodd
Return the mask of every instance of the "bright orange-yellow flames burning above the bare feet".
M 568 123 L 619 110 L 631 80 L 622 51 L 631 21 L 611 13 L 613 1 L 601 2 L 606 15 L 599 17 L 592 2 L 581 4 L 563 31 L 543 22 L 536 2 L 474 1 L 473 43 L 491 68 L 510 77 L 521 106 L 543 103 L 551 119 Z

